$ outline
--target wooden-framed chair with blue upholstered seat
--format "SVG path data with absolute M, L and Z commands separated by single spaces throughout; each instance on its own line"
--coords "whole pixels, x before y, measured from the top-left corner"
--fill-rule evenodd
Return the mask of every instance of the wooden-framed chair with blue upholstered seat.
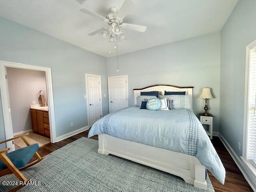
M 40 161 L 42 161 L 44 158 L 41 157 L 37 150 L 39 148 L 38 144 L 32 144 L 30 145 L 26 138 L 24 136 L 28 135 L 29 133 L 22 134 L 20 136 L 16 136 L 14 138 L 5 140 L 0 142 L 6 143 L 8 141 L 12 141 L 17 138 L 22 138 L 22 140 L 26 143 L 26 147 L 20 148 L 18 150 L 8 152 L 10 148 L 6 148 L 4 150 L 0 151 L 0 177 L 4 176 L 6 174 L 13 173 L 20 181 L 22 182 L 28 182 L 29 180 L 20 172 L 20 170 L 23 170 L 25 168 L 28 168 Z M 32 156 L 36 157 L 37 160 L 31 162 L 28 164 L 29 160 L 32 158 Z M 16 188 L 14 188 L 12 191 L 17 191 L 20 188 L 24 187 L 25 185 L 20 185 Z

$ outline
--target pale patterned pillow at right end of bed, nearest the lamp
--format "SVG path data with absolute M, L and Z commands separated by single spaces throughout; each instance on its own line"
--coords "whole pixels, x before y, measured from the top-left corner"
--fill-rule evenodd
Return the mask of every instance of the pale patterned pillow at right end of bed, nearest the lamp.
M 159 95 L 159 98 L 173 100 L 174 109 L 191 109 L 191 95 Z

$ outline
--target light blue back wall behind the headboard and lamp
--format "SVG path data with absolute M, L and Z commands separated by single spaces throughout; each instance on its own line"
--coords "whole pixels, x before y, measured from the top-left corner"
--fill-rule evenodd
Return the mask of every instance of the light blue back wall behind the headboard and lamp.
M 122 49 L 122 47 L 119 47 Z M 134 104 L 133 88 L 152 84 L 194 86 L 193 109 L 203 112 L 204 100 L 198 98 L 203 87 L 212 88 L 209 101 L 214 115 L 214 131 L 219 130 L 220 33 L 155 46 L 107 59 L 108 76 L 128 75 L 129 105 Z

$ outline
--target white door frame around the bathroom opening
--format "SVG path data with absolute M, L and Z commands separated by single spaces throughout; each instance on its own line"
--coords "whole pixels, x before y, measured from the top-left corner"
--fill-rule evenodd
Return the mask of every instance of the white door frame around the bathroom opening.
M 8 92 L 8 79 L 6 79 L 6 67 L 29 69 L 44 71 L 46 75 L 46 89 L 47 89 L 47 100 L 48 100 L 48 112 L 49 112 L 49 124 L 50 124 L 50 138 L 51 142 L 56 142 L 56 127 L 55 127 L 55 115 L 54 115 L 54 101 L 53 101 L 53 89 L 52 89 L 52 72 L 51 68 L 41 67 L 36 65 L 28 65 L 16 62 L 2 61 L 0 60 L 0 90 L 2 99 L 2 111 L 4 117 L 4 132 L 5 139 L 13 137 L 12 129 L 12 117 L 9 112 L 9 92 Z M 14 150 L 14 144 L 12 141 L 6 143 L 6 147 L 10 148 L 10 151 Z

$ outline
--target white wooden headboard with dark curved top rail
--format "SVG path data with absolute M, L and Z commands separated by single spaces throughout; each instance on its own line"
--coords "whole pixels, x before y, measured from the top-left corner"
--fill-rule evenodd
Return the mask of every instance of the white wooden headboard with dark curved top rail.
M 140 95 L 140 92 L 148 92 L 148 91 L 159 91 L 159 95 L 164 95 L 164 91 L 186 91 L 186 95 L 191 95 L 191 108 L 192 108 L 192 96 L 193 96 L 193 88 L 194 87 L 179 87 L 174 85 L 151 85 L 148 87 L 144 87 L 141 89 L 133 89 L 134 90 L 134 104 L 136 104 L 136 98 Z

